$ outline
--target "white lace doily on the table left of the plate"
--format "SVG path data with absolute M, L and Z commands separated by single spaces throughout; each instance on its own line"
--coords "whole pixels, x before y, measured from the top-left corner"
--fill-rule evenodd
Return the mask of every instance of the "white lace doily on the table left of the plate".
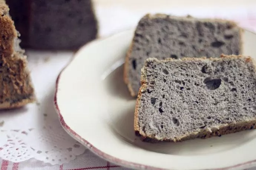
M 85 147 L 63 130 L 53 98 L 56 78 L 72 53 L 27 53 L 38 102 L 0 111 L 0 158 L 13 162 L 30 158 L 50 164 L 69 162 Z

